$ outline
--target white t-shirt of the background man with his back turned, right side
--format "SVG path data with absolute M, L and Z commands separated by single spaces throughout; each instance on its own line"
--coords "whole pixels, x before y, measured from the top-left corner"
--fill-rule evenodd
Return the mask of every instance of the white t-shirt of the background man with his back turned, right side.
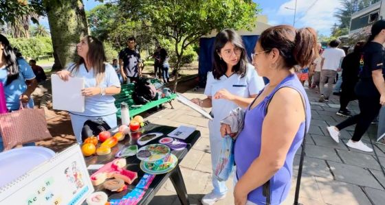
M 341 58 L 344 58 L 344 57 L 345 57 L 345 52 L 342 49 L 338 49 L 338 48 L 325 49 L 325 51 L 322 53 L 322 58 L 325 58 L 324 66 L 322 67 L 322 70 L 337 71 L 337 69 L 340 67 L 340 60 Z

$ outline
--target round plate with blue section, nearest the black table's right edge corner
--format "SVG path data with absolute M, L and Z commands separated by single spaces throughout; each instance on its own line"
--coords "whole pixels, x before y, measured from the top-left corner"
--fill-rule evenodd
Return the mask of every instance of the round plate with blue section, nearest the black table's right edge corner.
M 156 162 L 140 162 L 140 169 L 146 173 L 162 174 L 173 170 L 177 163 L 178 158 L 173 154 L 169 154 L 163 160 L 157 160 Z

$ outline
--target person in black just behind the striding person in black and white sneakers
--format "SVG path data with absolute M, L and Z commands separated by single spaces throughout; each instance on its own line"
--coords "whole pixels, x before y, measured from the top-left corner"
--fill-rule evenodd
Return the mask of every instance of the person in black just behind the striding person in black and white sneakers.
M 349 53 L 344 60 L 342 60 L 342 92 L 340 95 L 340 110 L 337 115 L 344 117 L 351 117 L 351 112 L 347 110 L 349 101 L 356 99 L 354 93 L 355 84 L 358 82 L 358 75 L 360 73 L 360 62 L 364 63 L 364 55 L 362 48 L 365 42 L 359 41 L 355 44 L 353 53 Z M 360 61 L 362 58 L 362 61 Z

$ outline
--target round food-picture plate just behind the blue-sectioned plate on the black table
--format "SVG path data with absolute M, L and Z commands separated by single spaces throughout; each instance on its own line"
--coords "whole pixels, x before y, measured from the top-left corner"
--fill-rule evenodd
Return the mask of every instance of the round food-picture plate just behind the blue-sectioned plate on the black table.
M 170 147 L 161 144 L 152 144 L 141 147 L 136 154 L 136 157 L 144 162 L 155 162 L 162 160 L 170 154 Z

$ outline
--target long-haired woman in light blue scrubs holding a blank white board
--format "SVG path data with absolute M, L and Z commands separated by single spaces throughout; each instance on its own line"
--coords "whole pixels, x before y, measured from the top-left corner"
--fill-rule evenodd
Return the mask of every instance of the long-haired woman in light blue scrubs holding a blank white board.
M 58 71 L 58 76 L 67 81 L 69 76 L 84 77 L 85 111 L 70 112 L 72 129 L 76 141 L 82 143 L 81 132 L 85 121 L 102 118 L 111 128 L 117 126 L 116 111 L 112 95 L 120 93 L 120 82 L 115 69 L 106 63 L 102 42 L 93 36 L 85 36 L 76 45 L 80 56 L 78 62 Z M 71 102 L 69 102 L 71 103 Z

